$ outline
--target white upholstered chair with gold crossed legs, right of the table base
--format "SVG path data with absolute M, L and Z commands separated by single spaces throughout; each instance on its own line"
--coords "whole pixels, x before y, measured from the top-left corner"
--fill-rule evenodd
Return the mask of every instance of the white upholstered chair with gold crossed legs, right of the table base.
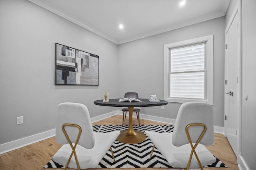
M 173 133 L 145 131 L 174 168 L 201 168 L 216 162 L 204 145 L 214 142 L 212 106 L 204 102 L 186 102 L 180 106 Z

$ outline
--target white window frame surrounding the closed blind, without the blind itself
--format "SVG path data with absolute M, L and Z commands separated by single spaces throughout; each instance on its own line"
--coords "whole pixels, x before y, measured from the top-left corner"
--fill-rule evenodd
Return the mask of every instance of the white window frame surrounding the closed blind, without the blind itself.
M 208 35 L 204 37 L 198 37 L 185 41 L 179 41 L 176 43 L 170 43 L 164 45 L 164 100 L 168 102 L 184 103 L 192 101 L 206 102 L 210 105 L 213 104 L 213 41 L 214 36 Z M 192 99 L 192 98 L 171 98 L 170 92 L 170 49 L 184 47 L 188 45 L 196 45 L 198 43 L 206 42 L 205 48 L 205 98 L 204 99 Z

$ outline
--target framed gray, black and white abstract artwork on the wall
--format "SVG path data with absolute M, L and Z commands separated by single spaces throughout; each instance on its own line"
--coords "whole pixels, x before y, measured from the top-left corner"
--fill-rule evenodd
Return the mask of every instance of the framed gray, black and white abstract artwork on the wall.
M 99 56 L 55 43 L 55 85 L 99 85 Z

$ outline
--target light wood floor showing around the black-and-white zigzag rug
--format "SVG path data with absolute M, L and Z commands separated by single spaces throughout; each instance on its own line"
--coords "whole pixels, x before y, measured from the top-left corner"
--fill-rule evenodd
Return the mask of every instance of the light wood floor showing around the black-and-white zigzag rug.
M 114 115 L 107 119 L 92 123 L 93 125 L 122 125 L 122 115 Z M 125 125 L 129 124 L 129 117 L 126 117 Z M 138 125 L 136 118 L 133 118 L 133 125 Z M 140 119 L 140 125 L 165 125 L 156 121 L 148 121 Z M 22 147 L 20 149 L 13 150 L 0 155 L 0 170 L 43 170 L 49 160 L 54 156 L 57 150 L 61 147 L 55 141 L 55 137 L 46 139 Z M 207 146 L 208 150 L 212 152 L 214 156 L 219 158 L 228 168 L 214 168 L 222 170 L 239 170 L 236 163 L 236 156 L 231 149 L 228 140 L 222 134 L 214 134 L 214 144 Z M 139 169 L 139 168 L 133 168 Z M 144 170 L 172 170 L 172 168 L 143 168 Z M 204 168 L 205 170 L 213 170 L 213 168 Z M 52 170 L 52 169 L 49 169 Z M 61 170 L 61 169 L 58 169 Z M 73 169 L 69 169 L 73 170 Z M 89 170 L 89 169 L 88 169 Z M 90 169 L 93 170 L 93 169 Z M 99 170 L 99 169 L 98 169 Z M 107 169 L 111 170 L 111 169 Z M 117 169 L 116 169 L 117 170 Z M 118 168 L 118 170 L 129 170 L 128 168 Z

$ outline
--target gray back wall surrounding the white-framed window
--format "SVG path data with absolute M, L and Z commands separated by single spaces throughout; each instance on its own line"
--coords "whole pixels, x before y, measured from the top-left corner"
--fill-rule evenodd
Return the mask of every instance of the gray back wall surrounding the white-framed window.
M 214 125 L 224 127 L 224 30 L 221 17 L 119 45 L 120 94 L 138 92 L 140 98 L 155 94 L 163 99 L 164 44 L 214 35 Z M 169 102 L 164 109 L 145 107 L 141 113 L 176 119 L 179 107 Z

